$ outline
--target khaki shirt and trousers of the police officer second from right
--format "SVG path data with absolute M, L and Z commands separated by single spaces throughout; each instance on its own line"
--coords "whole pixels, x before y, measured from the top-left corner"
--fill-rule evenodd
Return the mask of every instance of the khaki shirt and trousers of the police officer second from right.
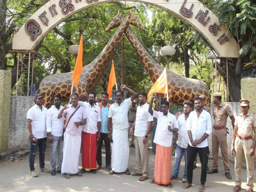
M 220 127 L 226 127 L 228 117 L 233 116 L 229 106 L 223 105 L 221 102 L 219 107 L 213 106 L 213 129 L 212 129 L 212 153 L 213 153 L 213 169 L 218 169 L 219 146 L 222 153 L 225 172 L 229 170 L 228 144 L 226 141 L 226 128 L 218 130 Z

